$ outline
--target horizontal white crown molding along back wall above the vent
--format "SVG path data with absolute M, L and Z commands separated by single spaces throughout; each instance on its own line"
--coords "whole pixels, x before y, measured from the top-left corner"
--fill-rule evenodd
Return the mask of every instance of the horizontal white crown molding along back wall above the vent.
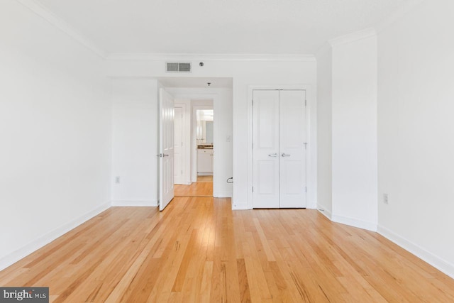
M 316 61 L 314 55 L 110 53 L 107 60 L 128 61 Z

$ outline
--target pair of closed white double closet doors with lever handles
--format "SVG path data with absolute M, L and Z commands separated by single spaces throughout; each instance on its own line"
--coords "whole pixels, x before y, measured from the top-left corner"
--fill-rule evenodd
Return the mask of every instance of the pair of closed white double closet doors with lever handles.
M 253 207 L 306 207 L 303 90 L 253 92 Z

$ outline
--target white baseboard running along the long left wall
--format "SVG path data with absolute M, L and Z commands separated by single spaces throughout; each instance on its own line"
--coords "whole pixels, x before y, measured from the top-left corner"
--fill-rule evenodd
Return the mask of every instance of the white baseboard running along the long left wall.
M 101 212 L 105 211 L 106 209 L 109 209 L 110 206 L 111 205 L 109 203 L 106 203 L 99 207 L 96 207 L 96 209 L 87 212 L 87 214 L 84 214 L 83 216 L 80 216 L 79 218 L 74 219 L 69 223 L 64 224 L 58 228 L 55 228 L 53 231 L 50 231 L 45 235 L 41 236 L 40 238 L 37 238 L 36 240 L 32 241 L 31 243 L 26 244 L 26 246 L 23 246 L 22 248 L 13 251 L 13 253 L 10 253 L 9 255 L 0 258 L 0 270 L 4 270 L 10 265 L 16 263 L 18 260 L 25 258 L 27 255 L 30 255 L 36 250 L 54 241 L 56 238 L 63 236 L 65 233 L 71 231 L 80 224 L 83 224 L 89 219 L 92 219 L 94 216 L 101 214 Z

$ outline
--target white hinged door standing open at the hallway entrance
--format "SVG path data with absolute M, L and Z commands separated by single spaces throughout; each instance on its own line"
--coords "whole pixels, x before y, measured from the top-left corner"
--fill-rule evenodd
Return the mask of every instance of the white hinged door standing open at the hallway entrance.
M 172 201 L 174 197 L 174 117 L 175 109 L 173 97 L 164 89 L 159 91 L 159 210 Z

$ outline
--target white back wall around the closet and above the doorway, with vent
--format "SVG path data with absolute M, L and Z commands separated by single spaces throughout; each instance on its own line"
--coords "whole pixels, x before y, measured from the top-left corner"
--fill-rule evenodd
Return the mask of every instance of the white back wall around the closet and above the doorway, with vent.
M 178 58 L 172 57 L 178 61 Z M 187 61 L 187 58 L 180 58 Z M 109 60 L 112 77 L 232 77 L 233 78 L 233 207 L 248 208 L 248 87 L 250 85 L 297 85 L 309 87 L 307 98 L 310 114 L 308 167 L 309 206 L 316 206 L 316 62 L 315 60 L 192 60 L 190 74 L 165 72 L 166 60 Z M 198 62 L 203 61 L 204 67 Z M 229 176 L 231 177 L 231 176 Z

